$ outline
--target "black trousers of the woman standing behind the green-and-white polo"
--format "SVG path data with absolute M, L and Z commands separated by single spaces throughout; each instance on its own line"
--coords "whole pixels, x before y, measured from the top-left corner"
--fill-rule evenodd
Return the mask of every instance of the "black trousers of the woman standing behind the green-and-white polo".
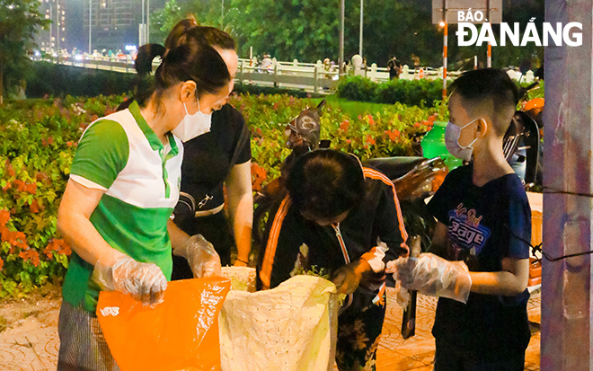
M 214 249 L 220 256 L 222 266 L 231 264 L 231 249 L 235 240 L 223 211 L 211 216 L 192 217 L 176 221 L 175 225 L 181 228 L 186 234 L 201 234 L 214 245 Z M 185 258 L 173 255 L 173 273 L 171 280 L 193 278 L 190 264 Z

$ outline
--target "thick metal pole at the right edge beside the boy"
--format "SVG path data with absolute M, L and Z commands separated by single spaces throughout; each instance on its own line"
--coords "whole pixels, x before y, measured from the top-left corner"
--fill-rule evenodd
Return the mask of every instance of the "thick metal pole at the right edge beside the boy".
M 593 1 L 546 1 L 545 22 L 582 25 L 582 45 L 544 50 L 544 252 L 550 257 L 593 248 Z M 593 369 L 591 255 L 542 260 L 542 371 Z

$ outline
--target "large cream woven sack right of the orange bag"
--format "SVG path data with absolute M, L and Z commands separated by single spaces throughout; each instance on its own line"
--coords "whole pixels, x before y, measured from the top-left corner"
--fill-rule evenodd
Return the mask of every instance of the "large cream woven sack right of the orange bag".
M 332 370 L 343 298 L 335 291 L 312 276 L 266 291 L 231 291 L 220 312 L 221 369 Z

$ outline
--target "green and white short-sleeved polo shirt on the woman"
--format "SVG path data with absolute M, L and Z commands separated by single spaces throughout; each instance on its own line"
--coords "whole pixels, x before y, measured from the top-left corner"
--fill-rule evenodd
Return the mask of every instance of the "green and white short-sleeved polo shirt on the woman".
M 112 248 L 159 266 L 171 278 L 167 221 L 179 199 L 181 141 L 168 134 L 164 146 L 140 114 L 137 102 L 94 121 L 78 144 L 70 179 L 104 190 L 91 223 Z M 75 252 L 62 288 L 64 300 L 94 312 L 99 287 L 93 265 Z

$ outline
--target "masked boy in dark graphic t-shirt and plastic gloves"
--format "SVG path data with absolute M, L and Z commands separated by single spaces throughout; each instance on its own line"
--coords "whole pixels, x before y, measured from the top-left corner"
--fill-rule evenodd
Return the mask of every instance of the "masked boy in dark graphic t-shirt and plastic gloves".
M 472 163 L 450 172 L 429 202 L 438 219 L 434 254 L 396 261 L 398 278 L 440 297 L 432 329 L 436 371 L 519 371 L 530 337 L 531 211 L 502 152 L 518 91 L 490 68 L 461 75 L 452 91 L 447 149 Z

